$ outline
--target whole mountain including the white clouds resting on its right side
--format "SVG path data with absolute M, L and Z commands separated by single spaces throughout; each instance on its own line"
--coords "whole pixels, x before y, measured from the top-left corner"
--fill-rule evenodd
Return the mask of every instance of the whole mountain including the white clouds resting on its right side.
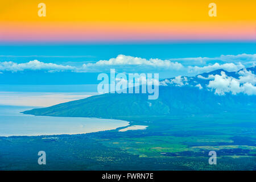
M 254 76 L 250 78 L 250 76 Z M 220 78 L 222 80 L 220 80 Z M 249 82 L 246 82 L 249 79 Z M 210 84 L 210 81 L 214 81 Z M 216 86 L 220 81 L 221 92 Z M 148 100 L 148 94 L 106 93 L 58 104 L 40 109 L 24 111 L 24 114 L 48 115 L 58 117 L 158 117 L 184 114 L 211 114 L 223 112 L 255 113 L 256 96 L 251 92 L 234 92 L 233 82 L 241 82 L 238 89 L 245 91 L 247 85 L 255 89 L 255 67 L 244 68 L 238 72 L 223 69 L 203 73 L 194 77 L 175 77 L 161 80 L 159 98 Z M 210 87 L 209 85 L 214 85 Z M 243 87 L 242 87 L 243 85 Z M 237 87 L 236 87 L 237 88 Z M 223 93 L 222 93 L 223 92 Z M 247 94 L 246 94 L 247 93 Z

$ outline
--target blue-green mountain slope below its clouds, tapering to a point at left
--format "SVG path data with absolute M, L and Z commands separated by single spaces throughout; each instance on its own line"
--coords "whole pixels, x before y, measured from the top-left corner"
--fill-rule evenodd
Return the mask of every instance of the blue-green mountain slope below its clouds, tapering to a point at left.
M 50 107 L 24 111 L 24 114 L 57 117 L 117 118 L 206 114 L 221 112 L 255 113 L 256 97 L 238 94 L 218 96 L 205 89 L 188 86 L 159 86 L 159 98 L 147 94 L 102 94 Z

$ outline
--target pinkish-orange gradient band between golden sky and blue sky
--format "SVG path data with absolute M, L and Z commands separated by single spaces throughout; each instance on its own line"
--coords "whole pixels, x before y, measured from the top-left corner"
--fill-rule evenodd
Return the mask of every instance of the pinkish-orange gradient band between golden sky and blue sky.
M 0 22 L 1 42 L 256 40 L 254 22 Z

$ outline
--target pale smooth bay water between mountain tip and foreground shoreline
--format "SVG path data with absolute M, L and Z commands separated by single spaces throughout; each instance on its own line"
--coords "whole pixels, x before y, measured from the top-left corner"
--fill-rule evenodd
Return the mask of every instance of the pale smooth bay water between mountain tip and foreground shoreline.
M 0 106 L 0 137 L 84 134 L 129 125 L 127 121 L 115 119 L 47 117 L 20 113 L 33 108 Z

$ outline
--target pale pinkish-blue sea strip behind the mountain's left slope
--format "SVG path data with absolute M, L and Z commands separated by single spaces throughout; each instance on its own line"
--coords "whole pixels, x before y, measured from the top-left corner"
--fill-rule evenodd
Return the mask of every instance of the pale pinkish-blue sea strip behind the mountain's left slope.
M 48 107 L 96 94 L 97 85 L 0 84 L 0 106 Z

